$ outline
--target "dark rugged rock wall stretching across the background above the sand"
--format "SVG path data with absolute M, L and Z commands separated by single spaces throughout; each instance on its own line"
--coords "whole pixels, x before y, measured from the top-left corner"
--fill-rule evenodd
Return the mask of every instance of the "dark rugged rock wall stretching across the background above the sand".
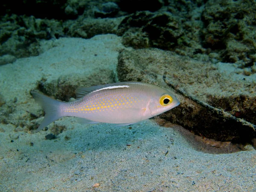
M 136 49 L 157 47 L 199 61 L 236 63 L 247 76 L 256 73 L 255 1 L 54 0 L 23 2 L 19 9 L 11 5 L 3 3 L 1 12 L 0 55 L 38 55 L 42 39 L 113 33 Z M 36 11 L 46 6 L 54 14 Z

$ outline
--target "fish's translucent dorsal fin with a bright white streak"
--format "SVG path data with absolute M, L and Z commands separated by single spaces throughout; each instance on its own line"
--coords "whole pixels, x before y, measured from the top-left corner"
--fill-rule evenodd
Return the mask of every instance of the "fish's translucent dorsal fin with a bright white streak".
M 136 83 L 136 82 L 118 82 L 118 83 L 111 83 L 111 84 L 96 85 L 92 87 L 78 87 L 75 91 L 76 99 L 81 99 L 83 96 L 89 93 L 103 90 L 103 89 L 117 89 L 117 88 L 129 87 L 129 84 L 131 83 Z

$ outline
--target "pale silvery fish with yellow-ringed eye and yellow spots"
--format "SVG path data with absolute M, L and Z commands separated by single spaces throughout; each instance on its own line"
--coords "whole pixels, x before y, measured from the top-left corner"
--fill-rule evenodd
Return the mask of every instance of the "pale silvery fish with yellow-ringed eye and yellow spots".
M 61 102 L 37 91 L 30 93 L 45 112 L 36 132 L 64 116 L 79 117 L 80 123 L 131 125 L 180 104 L 169 90 L 136 81 L 79 87 L 73 102 Z

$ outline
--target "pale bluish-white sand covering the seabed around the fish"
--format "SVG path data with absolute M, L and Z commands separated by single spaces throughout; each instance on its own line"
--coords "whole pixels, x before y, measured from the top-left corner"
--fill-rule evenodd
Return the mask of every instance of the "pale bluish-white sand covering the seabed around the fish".
M 81 125 L 64 117 L 48 131 L 28 131 L 29 123 L 42 120 L 30 116 L 41 113 L 29 94 L 38 81 L 115 71 L 125 49 L 116 35 L 42 44 L 41 55 L 0 66 L 0 96 L 6 102 L 0 109 L 8 120 L 0 123 L 0 191 L 256 191 L 253 148 L 209 154 L 195 148 L 196 141 L 177 125 L 161 127 L 154 119 L 124 127 Z M 6 105 L 12 108 L 7 115 Z M 55 126 L 65 130 L 46 140 Z

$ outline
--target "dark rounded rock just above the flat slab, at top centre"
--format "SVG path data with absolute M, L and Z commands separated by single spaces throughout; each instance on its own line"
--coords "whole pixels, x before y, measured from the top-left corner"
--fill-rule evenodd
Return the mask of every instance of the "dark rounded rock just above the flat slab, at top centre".
M 142 36 L 148 39 L 150 47 L 159 47 L 162 49 L 174 49 L 177 47 L 179 38 L 182 37 L 184 30 L 178 23 L 180 17 L 175 17 L 169 12 L 153 14 L 151 12 L 137 12 L 126 17 L 118 27 L 118 34 L 124 35 L 125 44 L 134 48 L 138 47 L 136 41 L 128 41 L 136 38 L 140 40 Z M 136 34 L 129 35 L 128 34 Z M 141 35 L 137 35 L 141 34 Z M 135 44 L 134 44 L 135 42 Z M 137 41 L 140 42 L 140 41 Z M 130 44 L 129 44 L 130 43 Z M 148 47 L 147 44 L 145 44 Z M 141 46 L 140 46 L 141 47 Z M 145 47 L 144 47 L 145 48 Z

